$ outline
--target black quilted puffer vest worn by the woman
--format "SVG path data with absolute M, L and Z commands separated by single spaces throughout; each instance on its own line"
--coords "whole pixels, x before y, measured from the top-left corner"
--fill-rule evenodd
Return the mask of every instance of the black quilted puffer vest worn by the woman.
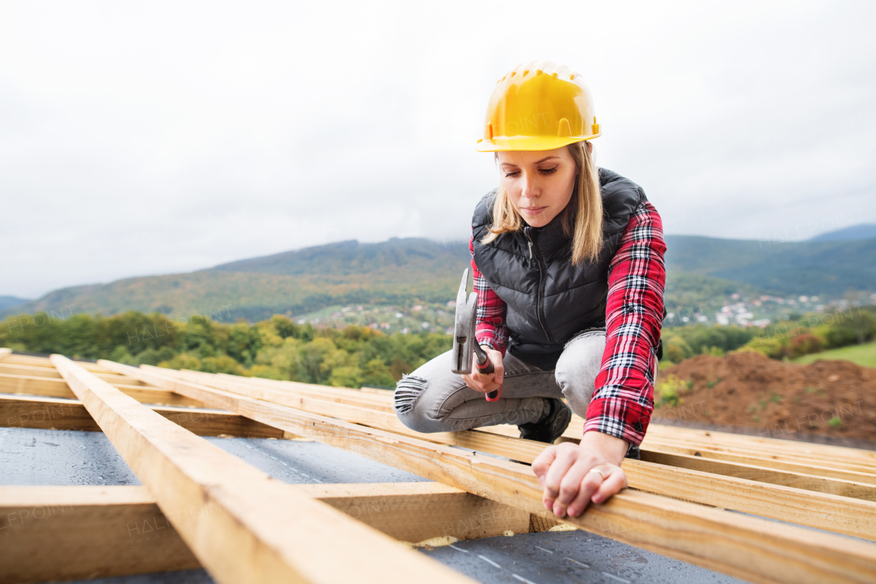
M 477 204 L 471 219 L 477 269 L 508 305 L 508 351 L 535 367 L 553 369 L 570 338 L 605 325 L 609 263 L 632 212 L 646 197 L 635 182 L 604 168 L 599 169 L 599 186 L 603 251 L 597 261 L 576 267 L 571 237 L 563 234 L 562 213 L 544 227 L 525 226 L 484 245 L 494 190 Z

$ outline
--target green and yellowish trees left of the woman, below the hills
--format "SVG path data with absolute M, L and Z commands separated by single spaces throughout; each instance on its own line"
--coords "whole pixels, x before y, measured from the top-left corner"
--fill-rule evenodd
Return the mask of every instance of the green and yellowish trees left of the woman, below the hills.
M 314 328 L 274 316 L 256 324 L 222 324 L 205 317 L 171 319 L 130 311 L 113 317 L 52 313 L 7 317 L 0 346 L 129 365 L 158 365 L 319 383 L 392 388 L 434 356 L 448 351 L 441 333 L 385 335 L 361 326 Z

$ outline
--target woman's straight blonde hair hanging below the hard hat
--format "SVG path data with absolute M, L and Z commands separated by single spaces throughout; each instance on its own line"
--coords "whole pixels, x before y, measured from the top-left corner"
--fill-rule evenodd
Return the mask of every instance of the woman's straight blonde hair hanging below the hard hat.
M 561 211 L 562 231 L 572 238 L 572 265 L 594 261 L 602 251 L 603 209 L 599 194 L 599 171 L 585 142 L 569 144 L 578 170 L 569 204 Z M 498 158 L 498 153 L 496 153 Z M 499 185 L 493 201 L 493 222 L 481 243 L 488 244 L 500 233 L 519 231 L 523 217 L 514 209 L 505 187 Z

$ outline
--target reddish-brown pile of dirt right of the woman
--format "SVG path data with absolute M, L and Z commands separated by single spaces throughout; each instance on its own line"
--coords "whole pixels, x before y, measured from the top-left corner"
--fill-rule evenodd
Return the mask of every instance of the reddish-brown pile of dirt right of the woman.
M 654 401 L 657 424 L 677 420 L 744 426 L 765 437 L 806 433 L 876 441 L 876 369 L 849 361 L 800 365 L 749 352 L 699 355 L 661 370 Z

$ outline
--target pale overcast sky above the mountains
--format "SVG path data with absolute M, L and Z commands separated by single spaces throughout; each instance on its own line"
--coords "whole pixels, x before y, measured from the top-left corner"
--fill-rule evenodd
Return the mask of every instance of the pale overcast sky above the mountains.
M 869 2 L 0 1 L 0 296 L 469 236 L 495 82 L 589 86 L 668 234 L 876 223 Z

